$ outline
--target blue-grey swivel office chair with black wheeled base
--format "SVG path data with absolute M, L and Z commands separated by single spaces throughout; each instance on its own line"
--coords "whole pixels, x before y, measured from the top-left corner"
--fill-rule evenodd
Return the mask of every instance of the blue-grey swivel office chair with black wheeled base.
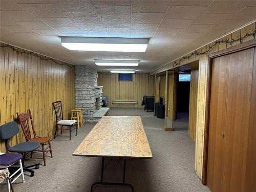
M 33 152 L 36 150 L 40 143 L 36 141 L 27 141 L 24 143 L 18 143 L 14 146 L 10 146 L 10 139 L 18 133 L 18 124 L 15 121 L 11 121 L 9 123 L 3 124 L 0 126 L 0 135 L 1 139 L 5 140 L 6 149 L 8 152 L 20 153 L 23 155 L 22 165 L 23 170 L 30 173 L 30 176 L 34 176 L 34 170 L 30 169 L 31 167 L 39 168 L 39 163 L 24 166 L 24 160 L 26 154 Z

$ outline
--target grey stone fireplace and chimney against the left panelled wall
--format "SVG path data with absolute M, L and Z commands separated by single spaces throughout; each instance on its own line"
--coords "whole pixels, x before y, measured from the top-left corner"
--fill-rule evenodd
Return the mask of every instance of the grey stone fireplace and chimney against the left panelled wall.
M 102 86 L 97 85 L 98 73 L 88 66 L 75 66 L 76 107 L 83 108 L 86 121 L 102 106 Z

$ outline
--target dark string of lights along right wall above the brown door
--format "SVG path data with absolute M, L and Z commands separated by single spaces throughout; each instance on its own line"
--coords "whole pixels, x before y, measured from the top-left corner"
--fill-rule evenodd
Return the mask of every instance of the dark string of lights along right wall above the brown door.
M 240 38 L 238 38 L 238 39 L 233 39 L 233 38 L 231 38 L 231 40 L 229 40 L 229 39 L 227 39 L 227 40 L 223 40 L 223 39 L 221 39 L 221 40 L 216 40 L 215 43 L 214 43 L 213 45 L 209 46 L 209 48 L 208 48 L 206 51 L 199 53 L 199 52 L 196 50 L 196 51 L 190 53 L 190 55 L 188 55 L 188 56 L 183 56 L 183 57 L 181 57 L 178 61 L 174 61 L 173 67 L 180 66 L 180 63 L 181 63 L 182 60 L 189 59 L 189 58 L 192 57 L 193 55 L 204 55 L 204 54 L 207 54 L 212 48 L 214 48 L 214 47 L 215 47 L 216 45 L 218 45 L 218 44 L 226 43 L 226 44 L 229 44 L 229 45 L 231 46 L 232 43 L 233 43 L 233 42 L 236 42 L 236 41 L 240 41 L 240 43 L 242 43 L 243 40 L 244 40 L 246 37 L 248 37 L 248 36 L 253 36 L 253 37 L 255 38 L 255 34 L 256 34 L 256 29 L 253 29 L 253 30 L 251 31 L 251 33 L 246 33 L 243 37 L 240 37 Z

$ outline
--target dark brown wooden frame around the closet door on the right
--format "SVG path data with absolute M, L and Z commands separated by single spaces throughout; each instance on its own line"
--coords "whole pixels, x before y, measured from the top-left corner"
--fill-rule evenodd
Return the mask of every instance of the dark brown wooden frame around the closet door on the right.
M 243 51 L 256 47 L 256 39 L 252 39 L 234 47 L 230 47 L 208 55 L 207 59 L 207 83 L 206 83 L 206 108 L 205 108 L 205 126 L 204 126 L 204 149 L 203 149 L 203 169 L 202 169 L 202 184 L 207 185 L 207 160 L 208 160 L 208 139 L 209 139 L 209 117 L 210 117 L 210 90 L 211 90 L 211 70 L 212 59 L 223 55 Z

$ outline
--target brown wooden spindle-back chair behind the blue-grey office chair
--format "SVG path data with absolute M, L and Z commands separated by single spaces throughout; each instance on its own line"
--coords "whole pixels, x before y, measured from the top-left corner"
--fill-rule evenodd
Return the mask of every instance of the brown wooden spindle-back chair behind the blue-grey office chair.
M 50 152 L 52 157 L 52 147 L 50 142 L 51 137 L 39 137 L 36 135 L 30 109 L 28 110 L 27 113 L 22 113 L 22 114 L 17 113 L 17 116 L 18 116 L 20 125 L 22 126 L 22 131 L 24 133 L 26 141 L 37 141 L 41 144 L 41 148 L 39 148 L 39 150 L 35 150 L 31 152 L 30 158 L 32 158 L 33 153 L 42 152 L 42 158 L 44 159 L 44 166 L 46 166 L 46 155 Z M 31 138 L 30 129 L 29 129 L 29 119 L 31 122 L 34 138 Z M 48 146 L 46 146 L 45 148 L 45 145 L 48 145 Z

